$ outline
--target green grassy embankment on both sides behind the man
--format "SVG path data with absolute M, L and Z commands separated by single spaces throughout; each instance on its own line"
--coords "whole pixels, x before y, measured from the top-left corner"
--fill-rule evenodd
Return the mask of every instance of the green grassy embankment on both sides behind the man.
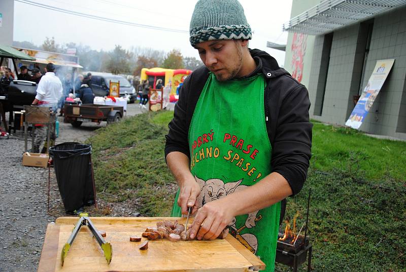
M 115 202 L 137 198 L 146 216 L 170 214 L 176 183 L 163 148 L 171 118 L 172 112 L 138 115 L 89 140 L 98 196 Z M 298 211 L 300 228 L 312 188 L 314 271 L 405 271 L 406 143 L 315 122 L 312 153 L 307 182 L 288 199 L 285 219 Z M 277 264 L 276 271 L 289 269 Z

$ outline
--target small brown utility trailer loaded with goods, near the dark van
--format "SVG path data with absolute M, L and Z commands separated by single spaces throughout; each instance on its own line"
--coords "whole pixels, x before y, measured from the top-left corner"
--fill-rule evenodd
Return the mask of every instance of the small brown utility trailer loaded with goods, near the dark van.
M 107 121 L 108 124 L 120 121 L 123 118 L 122 106 L 106 106 L 95 104 L 69 104 L 64 105 L 64 121 L 78 128 L 83 122 Z

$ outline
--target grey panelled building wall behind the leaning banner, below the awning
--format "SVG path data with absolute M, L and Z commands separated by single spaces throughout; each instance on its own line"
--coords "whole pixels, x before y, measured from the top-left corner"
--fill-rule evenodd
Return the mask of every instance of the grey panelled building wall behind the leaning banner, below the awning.
M 394 66 L 360 130 L 406 139 L 406 7 L 374 18 L 370 50 L 364 67 L 365 86 L 376 61 L 395 59 Z M 344 125 L 359 92 L 367 31 L 365 23 L 333 32 L 328 72 L 325 36 L 317 36 L 312 59 L 309 94 L 311 117 Z M 324 50 L 325 51 L 325 50 Z M 327 56 L 327 57 L 326 57 Z M 327 58 L 327 59 L 326 59 Z M 325 85 L 325 89 L 323 86 Z M 323 97 L 324 93 L 324 97 Z M 323 99 L 324 98 L 324 99 Z M 321 111 L 321 115 L 320 115 Z

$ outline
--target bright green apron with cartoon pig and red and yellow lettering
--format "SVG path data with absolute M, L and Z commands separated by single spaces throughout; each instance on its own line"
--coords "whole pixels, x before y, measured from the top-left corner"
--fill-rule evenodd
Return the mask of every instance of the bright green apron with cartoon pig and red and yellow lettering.
M 243 190 L 272 172 L 264 116 L 264 79 L 217 81 L 211 74 L 189 128 L 190 171 L 199 183 L 199 207 Z M 176 196 L 172 216 L 181 216 Z M 280 203 L 240 215 L 230 234 L 274 271 Z

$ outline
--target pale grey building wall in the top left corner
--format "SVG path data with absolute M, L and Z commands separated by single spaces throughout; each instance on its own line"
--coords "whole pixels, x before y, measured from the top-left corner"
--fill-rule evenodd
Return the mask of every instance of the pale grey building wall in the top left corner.
M 0 0 L 0 13 L 3 17 L 0 26 L 0 45 L 13 45 L 14 0 Z

